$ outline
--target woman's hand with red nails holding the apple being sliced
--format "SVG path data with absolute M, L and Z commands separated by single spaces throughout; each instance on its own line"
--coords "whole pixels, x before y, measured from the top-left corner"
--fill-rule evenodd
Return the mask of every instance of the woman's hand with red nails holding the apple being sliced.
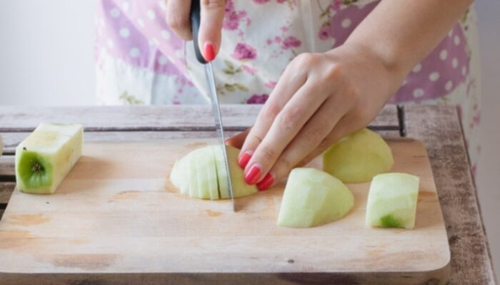
M 255 125 L 227 141 L 241 147 L 245 181 L 265 190 L 332 143 L 366 127 L 406 73 L 391 71 L 375 53 L 346 45 L 303 53 L 286 67 Z

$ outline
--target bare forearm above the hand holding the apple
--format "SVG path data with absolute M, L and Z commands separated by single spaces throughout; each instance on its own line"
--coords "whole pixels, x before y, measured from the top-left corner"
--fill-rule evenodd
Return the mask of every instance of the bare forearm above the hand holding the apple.
M 390 71 L 406 76 L 431 53 L 472 2 L 382 0 L 346 44 L 368 48 Z

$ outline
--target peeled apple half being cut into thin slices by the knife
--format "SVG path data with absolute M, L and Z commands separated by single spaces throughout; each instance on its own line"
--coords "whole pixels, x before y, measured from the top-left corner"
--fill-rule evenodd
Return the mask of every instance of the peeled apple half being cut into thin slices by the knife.
M 244 172 L 238 165 L 239 149 L 226 145 L 231 183 L 235 198 L 252 195 L 255 185 L 244 182 Z M 220 145 L 209 145 L 189 152 L 177 160 L 170 172 L 170 182 L 184 195 L 199 199 L 228 199 L 224 154 Z

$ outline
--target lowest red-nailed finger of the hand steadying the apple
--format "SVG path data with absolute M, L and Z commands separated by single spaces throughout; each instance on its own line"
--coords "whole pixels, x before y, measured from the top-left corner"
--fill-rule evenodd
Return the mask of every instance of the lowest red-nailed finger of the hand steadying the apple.
M 339 96 L 337 96 L 339 98 Z M 315 150 L 321 142 L 331 133 L 334 126 L 339 123 L 347 106 L 336 98 L 326 100 L 312 118 L 304 125 L 304 128 L 289 143 L 276 163 L 264 179 L 257 183 L 259 190 L 266 190 L 274 184 L 274 181 L 286 176 L 288 172 L 299 164 L 304 158 Z M 332 110 L 338 110 L 332 112 Z

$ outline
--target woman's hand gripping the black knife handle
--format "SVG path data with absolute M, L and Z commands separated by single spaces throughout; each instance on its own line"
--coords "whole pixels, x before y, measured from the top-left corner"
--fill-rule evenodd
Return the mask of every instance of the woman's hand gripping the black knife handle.
M 225 0 L 164 0 L 166 1 L 166 23 L 177 36 L 191 41 L 191 21 L 189 11 L 191 1 L 200 1 L 201 23 L 199 46 L 206 61 L 214 60 L 221 46 L 221 29 L 226 9 Z

